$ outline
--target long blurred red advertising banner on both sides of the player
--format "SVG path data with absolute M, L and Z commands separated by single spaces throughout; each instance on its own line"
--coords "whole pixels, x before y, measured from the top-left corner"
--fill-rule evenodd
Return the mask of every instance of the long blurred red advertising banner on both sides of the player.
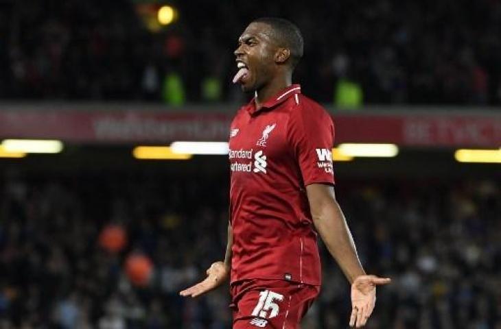
M 336 143 L 501 147 L 501 114 L 334 114 Z M 139 111 L 0 110 L 0 138 L 75 143 L 226 141 L 232 115 Z

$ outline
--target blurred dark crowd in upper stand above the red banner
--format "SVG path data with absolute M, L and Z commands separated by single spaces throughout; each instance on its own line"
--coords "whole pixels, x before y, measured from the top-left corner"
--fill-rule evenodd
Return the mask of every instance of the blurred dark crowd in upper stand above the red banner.
M 294 81 L 318 101 L 501 104 L 499 0 L 172 1 L 161 29 L 147 2 L 0 1 L 0 98 L 242 101 L 237 38 L 283 16 L 305 36 Z

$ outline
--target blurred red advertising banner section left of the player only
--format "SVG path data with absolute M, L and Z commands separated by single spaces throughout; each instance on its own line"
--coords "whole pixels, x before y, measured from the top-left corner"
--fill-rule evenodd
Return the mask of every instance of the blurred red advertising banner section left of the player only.
M 226 114 L 0 111 L 0 136 L 89 143 L 224 141 L 230 123 Z

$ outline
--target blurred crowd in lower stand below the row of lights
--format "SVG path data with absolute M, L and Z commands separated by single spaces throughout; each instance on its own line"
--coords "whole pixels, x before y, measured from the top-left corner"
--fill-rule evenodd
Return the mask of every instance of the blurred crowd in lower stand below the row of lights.
M 224 256 L 226 177 L 147 173 L 22 175 L 0 179 L 0 328 L 227 329 L 227 287 L 183 299 L 178 291 Z M 501 328 L 501 191 L 475 180 L 349 181 L 337 187 L 378 290 L 368 328 Z M 98 236 L 110 223 L 126 245 Z M 321 296 L 304 329 L 347 328 L 349 285 L 323 253 Z M 154 271 L 131 282 L 126 258 Z

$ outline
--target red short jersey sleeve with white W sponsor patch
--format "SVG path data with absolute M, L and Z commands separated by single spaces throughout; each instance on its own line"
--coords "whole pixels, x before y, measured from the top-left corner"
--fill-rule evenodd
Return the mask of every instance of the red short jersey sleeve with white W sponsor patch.
M 290 114 L 288 138 L 305 186 L 334 185 L 334 123 L 321 106 L 305 104 Z

